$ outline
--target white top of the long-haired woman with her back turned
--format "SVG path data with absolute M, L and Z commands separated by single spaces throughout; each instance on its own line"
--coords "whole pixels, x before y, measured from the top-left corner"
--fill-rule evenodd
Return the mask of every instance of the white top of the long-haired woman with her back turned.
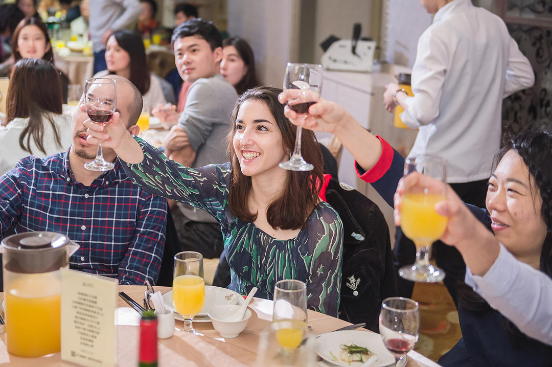
M 15 168 L 15 163 L 21 158 L 27 156 L 35 156 L 39 158 L 45 158 L 52 154 L 65 151 L 72 143 L 71 136 L 71 116 L 49 114 L 57 127 L 57 132 L 60 137 L 61 146 L 57 145 L 54 139 L 54 131 L 50 123 L 43 118 L 44 134 L 43 134 L 43 146 L 46 153 L 41 152 L 36 146 L 33 137 L 29 140 L 30 150 L 24 151 L 19 146 L 19 136 L 25 129 L 25 126 L 29 123 L 29 118 L 15 118 L 6 126 L 0 126 L 0 175 L 8 172 L 10 169 Z M 25 145 L 26 138 L 25 136 Z

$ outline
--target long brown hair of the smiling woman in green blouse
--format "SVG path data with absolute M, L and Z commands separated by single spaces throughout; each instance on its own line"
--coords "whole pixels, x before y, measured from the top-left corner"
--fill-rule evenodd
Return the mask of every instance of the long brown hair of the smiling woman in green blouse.
M 242 173 L 240 162 L 232 144 L 236 133 L 238 111 L 240 111 L 241 105 L 246 100 L 259 100 L 266 104 L 282 133 L 284 150 L 293 152 L 296 126 L 291 124 L 284 116 L 284 107 L 278 102 L 280 92 L 282 92 L 282 89 L 273 87 L 249 89 L 238 98 L 232 111 L 231 126 L 227 135 L 228 153 L 232 168 L 228 202 L 232 213 L 238 219 L 246 222 L 256 220 L 257 213 L 252 213 L 248 206 L 248 198 L 251 194 L 251 177 Z M 286 171 L 287 178 L 282 194 L 267 208 L 268 224 L 273 228 L 282 230 L 302 228 L 312 210 L 319 203 L 318 194 L 322 183 L 323 163 L 322 153 L 314 132 L 303 130 L 301 151 L 305 161 L 312 163 L 314 169 L 309 172 Z

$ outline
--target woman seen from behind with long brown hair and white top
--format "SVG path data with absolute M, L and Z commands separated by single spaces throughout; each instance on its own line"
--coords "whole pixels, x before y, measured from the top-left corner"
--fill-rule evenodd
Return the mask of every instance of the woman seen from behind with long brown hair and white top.
M 6 126 L 0 127 L 0 174 L 26 156 L 44 158 L 71 145 L 71 118 L 62 115 L 61 83 L 40 58 L 23 58 L 9 79 Z

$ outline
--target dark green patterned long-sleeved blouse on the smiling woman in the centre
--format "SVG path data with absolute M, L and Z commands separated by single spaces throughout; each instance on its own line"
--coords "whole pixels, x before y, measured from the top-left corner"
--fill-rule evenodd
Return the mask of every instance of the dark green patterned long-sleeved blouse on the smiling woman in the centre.
M 274 283 L 304 281 L 309 309 L 337 317 L 341 288 L 343 225 L 337 212 L 321 202 L 291 240 L 277 240 L 252 222 L 237 219 L 227 203 L 230 163 L 188 168 L 136 138 L 144 160 L 126 173 L 152 194 L 204 209 L 219 222 L 231 269 L 229 288 L 240 293 L 256 286 L 257 297 L 272 299 Z

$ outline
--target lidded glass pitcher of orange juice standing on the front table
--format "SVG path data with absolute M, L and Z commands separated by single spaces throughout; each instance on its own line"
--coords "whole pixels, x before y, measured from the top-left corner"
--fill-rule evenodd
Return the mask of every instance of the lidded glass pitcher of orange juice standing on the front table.
M 78 245 L 53 232 L 2 240 L 8 353 L 40 357 L 61 349 L 61 269 Z

